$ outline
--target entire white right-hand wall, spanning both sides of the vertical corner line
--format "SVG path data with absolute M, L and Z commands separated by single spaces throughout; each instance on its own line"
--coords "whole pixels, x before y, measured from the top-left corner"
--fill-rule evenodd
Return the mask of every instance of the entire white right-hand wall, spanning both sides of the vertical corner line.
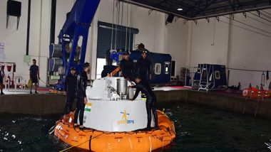
M 257 18 L 250 13 L 247 13 L 247 16 Z M 257 19 L 261 20 L 260 18 Z M 220 20 L 229 22 L 229 19 L 225 17 L 220 17 Z M 271 31 L 270 26 L 254 21 L 251 18 L 245 18 L 242 13 L 235 14 L 235 20 L 264 31 Z M 214 21 L 215 19 L 212 18 L 210 23 L 205 19 L 199 20 L 198 25 L 195 25 L 193 21 L 188 23 L 190 26 L 188 66 L 197 66 L 199 63 L 213 63 L 245 70 L 271 70 L 269 66 L 271 38 L 239 28 L 237 26 L 262 32 L 236 21 L 230 22 L 237 26 L 221 21 L 215 21 L 214 23 Z M 213 35 L 214 33 L 215 35 Z M 212 45 L 213 40 L 214 45 Z M 262 72 L 230 70 L 229 85 L 237 85 L 238 82 L 241 82 L 242 88 L 248 87 L 249 83 L 252 83 L 252 87 L 255 87 L 255 85 L 260 86 L 261 75 Z M 267 89 L 269 82 L 265 84 L 265 89 Z

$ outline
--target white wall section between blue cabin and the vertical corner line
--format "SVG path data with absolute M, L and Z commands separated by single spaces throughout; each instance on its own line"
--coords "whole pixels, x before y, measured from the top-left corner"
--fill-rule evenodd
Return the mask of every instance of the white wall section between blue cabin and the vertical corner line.
M 227 63 L 227 30 L 228 25 L 211 19 L 198 21 L 192 24 L 192 45 L 190 48 L 190 66 L 198 63 Z

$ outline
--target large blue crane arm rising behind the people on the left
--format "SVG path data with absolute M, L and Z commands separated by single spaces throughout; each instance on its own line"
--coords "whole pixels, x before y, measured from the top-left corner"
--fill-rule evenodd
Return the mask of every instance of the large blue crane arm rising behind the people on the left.
M 88 30 L 99 3 L 100 0 L 77 0 L 67 14 L 66 22 L 58 35 L 58 44 L 51 44 L 49 47 L 50 78 L 58 80 L 58 90 L 63 89 L 65 77 L 70 73 L 71 67 L 76 67 L 78 73 L 83 70 Z M 80 46 L 79 39 L 82 41 Z

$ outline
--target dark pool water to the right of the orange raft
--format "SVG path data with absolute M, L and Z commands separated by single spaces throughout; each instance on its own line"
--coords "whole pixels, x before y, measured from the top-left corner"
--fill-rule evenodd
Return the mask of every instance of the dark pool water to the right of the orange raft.
M 270 151 L 271 121 L 194 104 L 165 106 L 177 138 L 167 151 Z

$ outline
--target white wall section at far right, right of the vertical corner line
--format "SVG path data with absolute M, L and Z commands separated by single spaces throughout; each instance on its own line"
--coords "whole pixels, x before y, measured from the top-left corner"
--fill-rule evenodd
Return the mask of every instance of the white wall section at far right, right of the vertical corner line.
M 251 16 L 250 14 L 247 15 Z M 253 18 L 255 17 L 253 16 Z M 242 14 L 236 15 L 235 19 L 237 21 L 242 21 L 262 30 L 271 32 L 270 26 L 265 26 L 264 24 L 250 18 L 244 18 Z M 233 21 L 233 23 L 238 26 L 244 26 L 240 23 L 236 23 L 235 21 Z M 250 28 L 247 26 L 245 27 Z M 255 29 L 252 30 L 257 31 Z M 238 27 L 232 27 L 231 34 L 232 38 L 230 42 L 229 67 L 247 70 L 271 70 L 271 38 Z M 243 87 L 248 87 L 249 83 L 252 83 L 252 86 L 254 87 L 255 85 L 260 86 L 261 75 L 262 72 L 244 72 L 233 70 L 231 71 L 230 75 L 230 83 L 236 84 L 237 82 L 241 82 Z M 270 81 L 267 81 L 265 84 L 265 89 L 268 88 L 269 82 Z

